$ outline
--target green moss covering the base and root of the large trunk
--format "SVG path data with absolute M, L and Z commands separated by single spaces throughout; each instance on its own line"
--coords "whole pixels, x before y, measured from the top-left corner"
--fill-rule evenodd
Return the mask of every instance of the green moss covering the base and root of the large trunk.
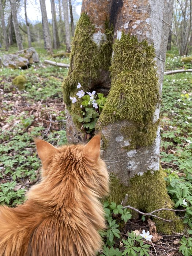
M 167 194 L 165 185 L 165 173 L 160 168 L 159 171 L 148 171 L 142 176 L 136 175 L 130 179 L 128 187 L 121 184 L 120 180 L 112 174 L 110 176 L 110 196 L 109 200 L 121 203 L 125 194 L 128 194 L 127 205 L 130 205 L 143 212 L 151 212 L 160 208 L 173 208 L 173 202 Z M 150 182 L 149 182 L 150 181 Z M 132 212 L 133 215 L 135 212 Z M 172 211 L 159 211 L 154 213 L 163 219 L 177 219 Z M 165 222 L 154 218 L 158 232 L 171 234 L 172 231 L 182 232 L 184 224 L 181 220 Z

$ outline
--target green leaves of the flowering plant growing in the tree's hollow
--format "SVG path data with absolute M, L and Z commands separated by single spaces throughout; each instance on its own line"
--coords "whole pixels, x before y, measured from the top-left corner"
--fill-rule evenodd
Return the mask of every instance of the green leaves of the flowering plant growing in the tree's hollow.
M 79 102 L 81 102 L 80 104 L 82 105 L 82 108 L 81 108 L 82 110 L 80 111 L 80 115 L 78 114 L 72 115 L 75 121 L 78 121 L 79 123 L 83 124 L 83 128 L 87 130 L 86 131 L 87 133 L 91 133 L 94 131 L 95 124 L 99 118 L 99 114 L 101 113 L 106 101 L 106 98 L 103 97 L 102 93 L 98 93 L 97 96 L 98 96 L 98 99 L 95 101 L 98 105 L 97 110 L 93 107 L 93 100 L 91 100 L 90 96 L 86 94 L 79 99 Z

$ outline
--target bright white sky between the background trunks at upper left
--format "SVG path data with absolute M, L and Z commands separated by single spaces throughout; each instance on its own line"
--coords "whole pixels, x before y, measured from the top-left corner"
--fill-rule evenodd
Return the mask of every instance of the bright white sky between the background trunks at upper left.
M 50 0 L 45 0 L 45 4 L 46 4 L 46 11 L 47 11 L 48 20 L 51 21 L 52 20 L 52 14 L 51 14 Z M 57 5 L 56 5 L 56 13 L 59 12 L 59 10 L 57 10 L 57 9 L 58 8 L 57 8 Z M 78 16 L 80 16 L 81 1 L 76 1 L 75 11 L 78 14 Z M 20 16 L 19 18 L 21 20 L 25 21 L 25 10 L 24 10 L 23 6 L 20 7 L 19 16 Z M 40 4 L 39 4 L 38 0 L 31 0 L 30 4 L 27 4 L 27 18 L 28 18 L 28 21 L 30 23 L 36 23 L 36 22 L 41 22 L 42 21 L 41 9 L 40 9 Z

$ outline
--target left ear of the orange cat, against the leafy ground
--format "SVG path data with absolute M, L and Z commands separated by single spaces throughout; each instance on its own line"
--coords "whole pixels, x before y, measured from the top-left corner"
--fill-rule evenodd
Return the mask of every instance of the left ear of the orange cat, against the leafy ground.
M 53 147 L 50 143 L 46 142 L 45 140 L 40 139 L 34 139 L 36 147 L 37 147 L 37 153 L 39 155 L 39 158 L 42 161 L 42 164 L 44 165 L 50 157 L 57 151 L 56 147 Z

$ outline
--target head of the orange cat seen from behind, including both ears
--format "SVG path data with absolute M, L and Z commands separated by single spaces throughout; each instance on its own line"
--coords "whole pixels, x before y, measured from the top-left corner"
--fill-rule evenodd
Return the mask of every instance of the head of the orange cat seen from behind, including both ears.
M 100 158 L 101 136 L 94 136 L 86 145 L 56 148 L 44 140 L 35 139 L 42 161 L 42 177 L 57 184 L 74 184 L 79 189 L 88 187 L 98 196 L 109 192 L 109 176 Z

